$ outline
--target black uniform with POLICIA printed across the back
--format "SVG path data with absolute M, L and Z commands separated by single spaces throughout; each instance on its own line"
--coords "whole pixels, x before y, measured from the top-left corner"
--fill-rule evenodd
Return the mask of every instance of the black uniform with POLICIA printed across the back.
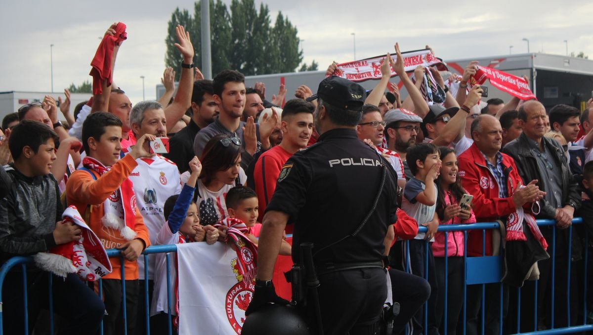
M 385 184 L 377 208 L 355 237 L 372 208 L 383 167 Z M 387 227 L 397 221 L 397 174 L 363 143 L 353 129 L 333 129 L 318 143 L 294 154 L 278 178 L 267 210 L 288 213 L 294 224 L 292 259 L 299 245 L 314 243 L 313 259 L 325 334 L 372 334 L 387 296 L 381 268 Z M 345 269 L 349 268 L 349 269 Z

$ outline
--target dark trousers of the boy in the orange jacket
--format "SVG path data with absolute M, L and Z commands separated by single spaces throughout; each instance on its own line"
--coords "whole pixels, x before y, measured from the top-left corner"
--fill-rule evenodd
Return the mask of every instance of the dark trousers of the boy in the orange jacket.
M 122 280 L 103 279 L 103 296 L 106 314 L 103 318 L 103 334 L 136 334 L 138 314 L 138 279 L 126 280 L 126 310 L 123 311 Z M 126 315 L 124 325 L 124 314 Z

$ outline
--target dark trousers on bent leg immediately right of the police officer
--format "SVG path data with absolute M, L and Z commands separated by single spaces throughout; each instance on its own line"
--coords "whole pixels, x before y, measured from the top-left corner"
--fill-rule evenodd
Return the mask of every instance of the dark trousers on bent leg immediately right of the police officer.
M 406 324 L 409 329 L 422 327 L 420 324 L 412 325 L 412 317 L 431 296 L 431 285 L 419 276 L 396 269 L 389 269 L 389 277 L 393 303 L 400 304 L 400 313 L 393 319 L 393 333 L 403 331 Z

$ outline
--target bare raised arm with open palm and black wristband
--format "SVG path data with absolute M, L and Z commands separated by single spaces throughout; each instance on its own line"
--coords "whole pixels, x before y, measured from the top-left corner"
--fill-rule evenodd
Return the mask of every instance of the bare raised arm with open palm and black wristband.
M 193 45 L 189 38 L 189 32 L 185 30 L 182 25 L 177 25 L 175 28 L 177 39 L 179 43 L 175 43 L 175 47 L 183 56 L 182 64 L 193 64 Z M 167 132 L 169 132 L 183 114 L 192 106 L 192 89 L 193 89 L 194 72 L 192 68 L 181 67 L 181 77 L 179 78 L 179 86 L 177 87 L 177 94 L 175 100 L 169 106 L 165 107 L 165 118 L 167 119 Z

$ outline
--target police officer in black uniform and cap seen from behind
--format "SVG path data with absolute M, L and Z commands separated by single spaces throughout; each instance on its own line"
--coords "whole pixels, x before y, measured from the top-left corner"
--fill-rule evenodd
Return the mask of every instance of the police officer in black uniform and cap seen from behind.
M 321 136 L 315 145 L 289 158 L 280 171 L 263 218 L 248 314 L 267 302 L 286 303 L 276 295 L 271 279 L 290 222 L 295 263 L 302 261 L 299 245 L 314 244 L 324 334 L 377 330 L 387 297 L 382 268 L 385 235 L 397 221 L 397 175 L 356 135 L 365 95 L 361 85 L 330 76 L 307 99 L 318 100 L 315 129 Z

